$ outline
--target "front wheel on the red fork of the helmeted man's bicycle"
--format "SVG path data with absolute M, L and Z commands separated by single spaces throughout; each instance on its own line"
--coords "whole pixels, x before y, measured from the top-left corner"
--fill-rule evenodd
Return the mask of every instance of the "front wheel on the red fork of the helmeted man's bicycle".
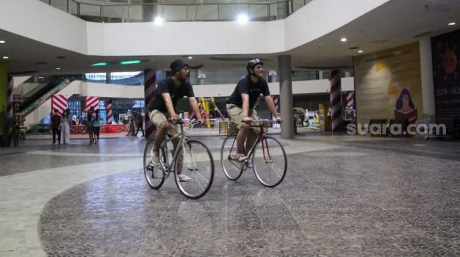
M 275 187 L 286 176 L 287 157 L 285 149 L 275 138 L 259 140 L 252 154 L 252 166 L 257 180 L 266 187 Z

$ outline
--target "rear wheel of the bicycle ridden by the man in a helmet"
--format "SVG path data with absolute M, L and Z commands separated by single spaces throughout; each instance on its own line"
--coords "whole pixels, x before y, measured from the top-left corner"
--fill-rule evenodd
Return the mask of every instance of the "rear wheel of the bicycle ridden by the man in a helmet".
M 223 173 L 230 180 L 237 180 L 243 173 L 243 164 L 237 162 L 237 144 L 235 138 L 233 135 L 225 138 L 220 149 L 220 164 L 222 165 Z

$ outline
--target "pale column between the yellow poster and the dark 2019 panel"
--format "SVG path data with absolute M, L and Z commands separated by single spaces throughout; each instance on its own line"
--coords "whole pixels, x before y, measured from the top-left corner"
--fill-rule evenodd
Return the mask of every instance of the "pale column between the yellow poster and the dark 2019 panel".
M 433 83 L 433 61 L 431 56 L 431 39 L 420 40 L 420 73 L 422 83 L 423 113 L 435 116 L 435 84 Z

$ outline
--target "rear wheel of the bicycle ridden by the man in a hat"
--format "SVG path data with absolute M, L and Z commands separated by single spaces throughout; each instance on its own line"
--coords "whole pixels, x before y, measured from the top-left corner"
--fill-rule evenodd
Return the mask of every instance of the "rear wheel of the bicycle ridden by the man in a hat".
M 154 140 L 149 140 L 147 145 L 144 149 L 144 176 L 147 180 L 149 186 L 153 189 L 159 189 L 163 183 L 165 182 L 165 178 L 163 176 L 163 170 L 161 167 L 154 167 L 153 169 L 146 169 L 147 163 L 151 159 L 152 150 L 154 149 Z M 164 152 L 163 147 L 160 149 L 160 160 L 163 163 L 166 163 L 166 154 Z

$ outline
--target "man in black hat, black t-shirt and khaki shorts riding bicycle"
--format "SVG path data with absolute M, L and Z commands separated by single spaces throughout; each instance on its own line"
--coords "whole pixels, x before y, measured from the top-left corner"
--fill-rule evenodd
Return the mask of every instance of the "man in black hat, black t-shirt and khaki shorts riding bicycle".
M 156 93 L 154 100 L 149 103 L 149 117 L 150 120 L 155 124 L 157 131 L 155 134 L 154 149 L 152 157 L 146 166 L 146 169 L 153 169 L 154 166 L 160 166 L 159 150 L 161 143 L 166 138 L 166 134 L 169 136 L 175 136 L 180 133 L 180 126 L 178 124 L 170 124 L 168 119 L 174 123 L 180 121 L 180 116 L 175 110 L 175 106 L 178 100 L 187 96 L 190 107 L 197 117 L 199 122 L 203 122 L 201 114 L 199 113 L 199 107 L 197 99 L 194 97 L 192 85 L 187 81 L 189 77 L 189 65 L 182 62 L 182 60 L 175 60 L 169 65 L 172 77 L 162 79 L 156 87 Z M 179 138 L 171 140 L 174 145 L 174 149 L 178 146 Z M 178 178 L 182 182 L 190 180 L 185 174 L 181 174 L 181 171 L 176 171 Z

